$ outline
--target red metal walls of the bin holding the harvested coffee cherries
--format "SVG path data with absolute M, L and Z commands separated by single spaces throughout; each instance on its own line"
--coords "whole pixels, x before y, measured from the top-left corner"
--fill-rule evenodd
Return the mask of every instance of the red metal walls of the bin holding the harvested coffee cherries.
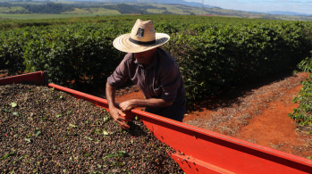
M 46 72 L 42 71 L 0 79 L 0 85 L 24 81 L 55 87 L 108 110 L 105 99 L 49 84 Z M 186 173 L 312 173 L 311 160 L 290 153 L 223 136 L 137 109 L 131 110 L 127 117 L 134 115 L 137 115 L 159 140 L 178 152 L 170 155 Z

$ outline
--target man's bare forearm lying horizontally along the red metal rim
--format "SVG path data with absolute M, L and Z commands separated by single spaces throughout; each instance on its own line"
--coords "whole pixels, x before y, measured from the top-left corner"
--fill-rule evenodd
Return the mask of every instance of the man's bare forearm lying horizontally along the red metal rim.
M 132 99 L 122 102 L 119 107 L 122 111 L 129 111 L 136 107 L 166 107 L 172 105 L 173 102 L 165 102 L 163 99 L 150 98 L 150 99 Z

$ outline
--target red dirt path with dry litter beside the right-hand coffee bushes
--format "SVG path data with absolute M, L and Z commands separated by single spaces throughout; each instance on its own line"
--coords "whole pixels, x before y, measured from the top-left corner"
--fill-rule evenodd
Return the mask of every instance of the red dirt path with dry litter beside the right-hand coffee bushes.
M 299 105 L 291 103 L 301 88 L 299 82 L 307 77 L 307 73 L 286 75 L 271 83 L 264 80 L 253 84 L 256 87 L 243 87 L 239 92 L 229 91 L 210 108 L 190 112 L 183 122 L 307 158 L 312 156 L 312 137 L 299 134 L 288 117 Z M 240 95 L 235 98 L 229 93 Z

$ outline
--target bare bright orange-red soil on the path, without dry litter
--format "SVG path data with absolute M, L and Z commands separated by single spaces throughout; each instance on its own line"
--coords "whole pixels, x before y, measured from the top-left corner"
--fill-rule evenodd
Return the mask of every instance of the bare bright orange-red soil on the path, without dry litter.
M 307 148 L 309 146 L 307 138 L 311 136 L 297 134 L 295 121 L 288 117 L 288 113 L 299 106 L 299 104 L 292 104 L 291 99 L 293 95 L 298 95 L 300 88 L 301 86 L 294 87 L 282 97 L 268 104 L 262 114 L 249 120 L 249 124 L 240 128 L 239 133 L 233 137 L 285 153 L 302 157 L 310 156 L 312 151 L 311 148 Z

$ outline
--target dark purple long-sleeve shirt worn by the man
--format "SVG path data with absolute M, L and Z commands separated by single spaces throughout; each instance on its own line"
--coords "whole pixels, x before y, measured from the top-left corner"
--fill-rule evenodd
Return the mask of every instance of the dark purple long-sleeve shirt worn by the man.
M 134 54 L 126 54 L 114 73 L 107 78 L 107 83 L 112 87 L 122 86 L 129 77 L 147 99 L 185 102 L 186 91 L 178 63 L 161 48 L 156 49 L 147 68 L 137 62 Z

